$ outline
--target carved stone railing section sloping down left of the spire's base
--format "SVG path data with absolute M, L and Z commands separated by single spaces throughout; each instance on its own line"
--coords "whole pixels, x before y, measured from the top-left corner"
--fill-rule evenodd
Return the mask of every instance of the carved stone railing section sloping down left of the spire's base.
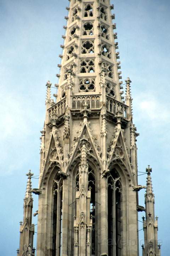
M 62 114 L 64 114 L 65 111 L 66 111 L 66 97 L 48 109 L 48 112 L 49 112 L 48 122 L 50 122 L 51 114 L 55 113 L 56 116 L 59 117 Z

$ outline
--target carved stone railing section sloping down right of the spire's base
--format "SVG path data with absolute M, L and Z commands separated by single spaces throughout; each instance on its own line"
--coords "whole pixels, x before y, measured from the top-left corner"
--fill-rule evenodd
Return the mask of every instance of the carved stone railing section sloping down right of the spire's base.
M 109 112 L 116 114 L 118 111 L 118 107 L 121 108 L 123 118 L 127 118 L 128 106 L 113 99 L 112 97 L 106 96 L 106 108 Z

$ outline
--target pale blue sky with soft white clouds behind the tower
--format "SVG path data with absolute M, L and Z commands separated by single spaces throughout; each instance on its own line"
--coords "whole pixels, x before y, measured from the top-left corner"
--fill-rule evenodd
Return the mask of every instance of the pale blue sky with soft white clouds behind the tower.
M 162 256 L 169 254 L 170 2 L 115 0 L 121 71 L 132 80 L 138 170 L 153 169 Z M 57 82 L 67 0 L 0 0 L 0 255 L 15 255 L 29 169 L 39 174 L 46 81 Z M 55 91 L 53 92 L 55 93 Z M 38 180 L 33 179 L 33 187 Z M 145 185 L 146 175 L 139 176 Z M 140 192 L 140 205 L 145 191 Z M 34 196 L 34 212 L 38 209 Z M 143 215 L 143 214 L 142 214 Z M 142 215 L 140 214 L 139 220 Z M 33 219 L 37 223 L 37 217 Z M 139 229 L 142 228 L 141 223 Z M 139 232 L 140 240 L 143 231 Z M 143 243 L 143 242 L 141 242 Z M 34 245 L 36 246 L 36 245 Z

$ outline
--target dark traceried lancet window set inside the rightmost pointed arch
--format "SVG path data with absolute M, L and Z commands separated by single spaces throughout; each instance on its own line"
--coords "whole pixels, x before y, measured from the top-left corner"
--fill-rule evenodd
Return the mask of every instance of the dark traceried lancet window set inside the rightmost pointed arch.
M 108 176 L 108 256 L 121 256 L 122 186 L 118 172 Z

